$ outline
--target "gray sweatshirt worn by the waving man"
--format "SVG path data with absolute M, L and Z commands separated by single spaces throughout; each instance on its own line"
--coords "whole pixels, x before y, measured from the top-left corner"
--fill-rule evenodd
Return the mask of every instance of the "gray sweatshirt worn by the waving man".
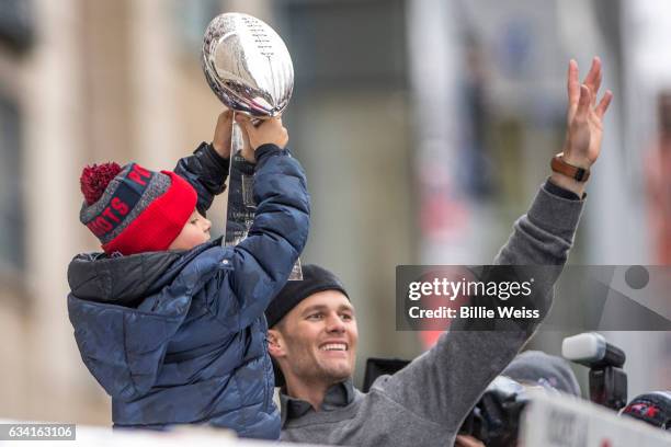
M 553 286 L 566 263 L 584 200 L 549 182 L 531 209 L 515 224 L 497 255 L 498 265 L 556 265 L 536 278 L 535 294 L 549 309 Z M 455 323 L 463 320 L 456 320 Z M 320 411 L 281 396 L 282 440 L 344 446 L 452 446 L 473 406 L 518 355 L 539 324 L 538 319 L 505 331 L 459 331 L 442 334 L 427 353 L 394 376 L 379 377 L 368 393 L 351 381 L 332 386 Z

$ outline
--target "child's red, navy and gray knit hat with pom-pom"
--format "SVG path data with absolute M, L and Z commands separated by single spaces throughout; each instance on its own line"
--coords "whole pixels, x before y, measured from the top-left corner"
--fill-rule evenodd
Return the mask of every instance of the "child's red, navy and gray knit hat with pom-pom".
M 80 177 L 84 203 L 79 220 L 105 253 L 167 250 L 195 209 L 197 194 L 174 172 L 137 163 L 86 167 Z

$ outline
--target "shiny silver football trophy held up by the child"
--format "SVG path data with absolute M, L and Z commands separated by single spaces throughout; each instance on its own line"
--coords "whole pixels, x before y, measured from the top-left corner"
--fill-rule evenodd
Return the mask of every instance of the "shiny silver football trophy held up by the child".
M 216 16 L 203 39 L 203 72 L 228 108 L 253 121 L 282 114 L 294 89 L 294 66 L 284 42 L 263 21 L 229 12 Z M 242 135 L 232 123 L 225 245 L 236 245 L 249 232 L 255 211 L 254 167 L 241 154 Z M 289 279 L 302 279 L 300 261 Z

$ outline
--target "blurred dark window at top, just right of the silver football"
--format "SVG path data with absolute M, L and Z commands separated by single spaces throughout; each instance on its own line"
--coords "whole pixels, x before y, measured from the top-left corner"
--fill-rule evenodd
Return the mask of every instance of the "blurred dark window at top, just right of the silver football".
M 405 89 L 403 0 L 283 0 L 296 84 L 308 88 Z

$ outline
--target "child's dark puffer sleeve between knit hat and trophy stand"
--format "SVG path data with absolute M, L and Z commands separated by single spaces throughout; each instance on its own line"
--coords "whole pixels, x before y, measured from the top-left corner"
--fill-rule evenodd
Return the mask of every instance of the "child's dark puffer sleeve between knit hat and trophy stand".
M 186 180 L 198 194 L 196 208 L 203 216 L 212 206 L 214 196 L 226 190 L 230 160 L 219 156 L 212 145 L 202 142 L 192 156 L 178 161 L 174 173 Z

